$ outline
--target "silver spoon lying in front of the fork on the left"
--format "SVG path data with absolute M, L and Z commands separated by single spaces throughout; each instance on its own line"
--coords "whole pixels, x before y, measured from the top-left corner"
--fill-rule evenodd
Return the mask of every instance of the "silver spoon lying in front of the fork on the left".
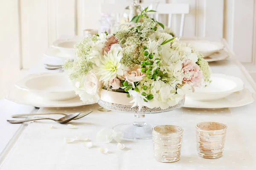
M 16 123 L 23 123 L 23 122 L 29 122 L 29 121 L 35 121 L 35 120 L 53 120 L 57 123 L 67 123 L 70 122 L 71 120 L 75 119 L 76 116 L 79 116 L 80 113 L 73 113 L 67 116 L 62 117 L 61 119 L 52 119 L 52 118 L 38 118 L 38 119 L 29 119 L 29 120 L 7 120 L 7 122 L 16 124 Z

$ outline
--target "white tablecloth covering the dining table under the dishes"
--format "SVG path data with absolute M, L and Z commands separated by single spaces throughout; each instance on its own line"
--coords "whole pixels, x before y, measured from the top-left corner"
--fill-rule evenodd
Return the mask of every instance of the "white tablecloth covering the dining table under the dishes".
M 234 60 L 211 65 L 214 73 L 240 77 L 245 87 L 255 92 L 256 86 L 248 74 L 241 71 Z M 243 68 L 242 68 L 243 69 Z M 146 121 L 159 125 L 183 127 L 184 136 L 181 159 L 175 163 L 154 160 L 151 140 L 124 141 L 125 149 L 118 150 L 116 143 L 97 142 L 96 133 L 102 128 L 133 121 L 128 113 L 101 112 L 97 104 L 79 108 L 48 109 L 45 112 L 93 113 L 81 120 L 70 122 L 76 129 L 51 121 L 29 123 L 20 139 L 6 156 L 1 170 L 255 170 L 256 169 L 256 102 L 239 108 L 192 109 L 181 108 L 167 113 L 146 115 Z M 54 115 L 52 117 L 60 117 Z M 196 153 L 195 125 L 198 122 L 221 122 L 228 126 L 224 156 L 220 159 L 203 159 Z M 52 124 L 55 128 L 49 128 Z M 66 143 L 64 138 L 84 136 L 93 142 L 93 148 L 81 143 Z M 100 153 L 98 147 L 107 147 L 108 154 Z

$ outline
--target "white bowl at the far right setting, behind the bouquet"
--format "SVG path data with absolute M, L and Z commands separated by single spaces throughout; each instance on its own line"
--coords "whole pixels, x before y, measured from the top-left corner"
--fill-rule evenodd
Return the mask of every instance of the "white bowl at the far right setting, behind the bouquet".
M 182 40 L 195 48 L 195 51 L 199 51 L 204 57 L 208 57 L 218 51 L 224 49 L 224 45 L 221 42 L 206 41 L 206 40 Z

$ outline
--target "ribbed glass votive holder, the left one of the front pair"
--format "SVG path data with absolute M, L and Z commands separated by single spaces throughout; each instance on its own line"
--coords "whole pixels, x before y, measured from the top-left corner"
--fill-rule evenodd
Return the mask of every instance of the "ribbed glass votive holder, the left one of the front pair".
M 152 130 L 154 158 L 172 163 L 180 160 L 183 129 L 174 125 L 160 125 Z

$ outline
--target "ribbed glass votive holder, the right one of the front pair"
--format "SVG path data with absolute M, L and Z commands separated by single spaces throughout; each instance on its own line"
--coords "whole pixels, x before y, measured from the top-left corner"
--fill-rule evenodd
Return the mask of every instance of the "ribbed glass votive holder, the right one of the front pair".
M 202 122 L 196 125 L 197 153 L 206 159 L 223 156 L 227 126 L 216 122 Z

